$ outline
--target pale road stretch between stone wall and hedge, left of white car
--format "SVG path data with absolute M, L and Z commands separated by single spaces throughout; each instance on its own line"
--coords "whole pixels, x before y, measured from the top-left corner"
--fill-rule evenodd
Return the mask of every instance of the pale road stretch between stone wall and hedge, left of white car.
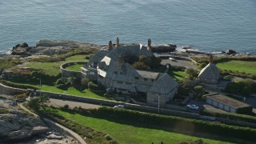
M 65 101 L 62 99 L 54 99 L 50 98 L 50 105 L 53 106 L 64 106 L 64 105 L 69 105 L 70 108 L 74 108 L 74 106 L 81 106 L 83 109 L 98 109 L 99 105 L 93 105 L 89 103 L 83 103 L 83 102 L 73 102 L 73 101 Z

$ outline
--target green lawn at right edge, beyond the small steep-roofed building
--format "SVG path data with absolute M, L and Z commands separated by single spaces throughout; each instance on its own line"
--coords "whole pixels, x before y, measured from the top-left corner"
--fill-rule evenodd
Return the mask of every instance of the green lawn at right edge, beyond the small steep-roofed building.
M 227 62 L 219 62 L 216 66 L 221 70 L 238 70 L 239 72 L 256 74 L 256 62 L 230 60 Z

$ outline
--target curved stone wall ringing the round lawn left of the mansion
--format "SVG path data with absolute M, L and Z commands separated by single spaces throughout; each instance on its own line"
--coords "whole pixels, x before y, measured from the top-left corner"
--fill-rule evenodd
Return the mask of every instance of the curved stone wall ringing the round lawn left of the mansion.
M 65 68 L 67 66 L 72 66 L 72 65 L 75 65 L 75 64 L 86 64 L 87 62 L 82 62 L 82 61 L 78 61 L 78 62 L 66 62 L 66 63 L 63 63 L 61 66 L 60 66 L 60 70 L 61 70 L 61 73 L 62 73 L 62 76 L 63 77 L 75 77 L 75 78 L 82 78 L 82 73 L 80 71 L 73 71 L 73 70 L 66 70 Z

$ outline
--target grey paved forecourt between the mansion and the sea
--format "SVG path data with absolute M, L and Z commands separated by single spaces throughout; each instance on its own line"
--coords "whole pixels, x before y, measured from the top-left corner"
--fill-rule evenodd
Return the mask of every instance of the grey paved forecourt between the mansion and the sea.
M 170 59 L 162 59 L 161 64 L 166 65 L 167 63 L 170 63 L 171 66 L 184 66 L 186 68 L 193 68 L 195 70 L 198 70 L 196 66 L 194 66 L 191 62 L 185 61 L 185 60 L 175 60 L 171 61 Z

